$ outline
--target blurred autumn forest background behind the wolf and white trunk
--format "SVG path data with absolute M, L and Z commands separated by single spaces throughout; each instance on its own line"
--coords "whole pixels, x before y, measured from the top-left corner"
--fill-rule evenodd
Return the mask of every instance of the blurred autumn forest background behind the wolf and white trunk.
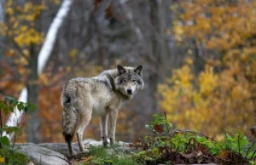
M 249 134 L 256 112 L 255 0 L 73 0 L 38 76 L 38 53 L 61 0 L 0 0 L 0 100 L 37 106 L 18 142 L 64 142 L 61 88 L 117 65 L 143 65 L 145 88 L 119 111 L 116 139 L 147 134 L 154 113 L 222 139 Z M 7 119 L 5 119 L 6 121 Z M 32 127 L 34 126 L 34 127 Z M 99 119 L 84 138 L 100 139 Z

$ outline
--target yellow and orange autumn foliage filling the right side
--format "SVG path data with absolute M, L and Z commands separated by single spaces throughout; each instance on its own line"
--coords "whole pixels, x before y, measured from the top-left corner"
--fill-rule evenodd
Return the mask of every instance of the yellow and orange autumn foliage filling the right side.
M 159 86 L 161 109 L 178 128 L 215 137 L 224 128 L 248 132 L 256 108 L 256 2 L 182 1 L 172 9 L 173 32 L 189 57 Z M 206 64 L 196 72 L 200 55 Z

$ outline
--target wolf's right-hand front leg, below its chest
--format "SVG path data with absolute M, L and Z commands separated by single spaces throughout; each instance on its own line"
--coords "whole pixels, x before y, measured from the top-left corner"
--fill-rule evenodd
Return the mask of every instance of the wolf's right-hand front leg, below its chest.
M 110 114 L 109 114 L 110 145 L 114 145 L 114 143 L 115 143 L 115 127 L 116 127 L 117 117 L 118 117 L 118 111 L 116 111 L 116 110 L 110 111 Z

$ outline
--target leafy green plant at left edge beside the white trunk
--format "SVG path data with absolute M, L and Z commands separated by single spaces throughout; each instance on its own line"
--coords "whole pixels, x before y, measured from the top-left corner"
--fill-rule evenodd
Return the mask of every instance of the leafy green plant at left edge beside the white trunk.
M 0 101 L 0 157 L 5 164 L 26 164 L 27 157 L 14 151 L 16 136 L 12 146 L 9 142 L 9 136 L 18 133 L 20 128 L 18 126 L 9 127 L 3 124 L 3 115 L 7 117 L 9 112 L 15 111 L 15 108 L 26 113 L 27 111 L 33 111 L 35 106 L 31 103 L 17 101 L 9 96 L 6 96 L 4 101 Z M 3 135 L 3 132 L 6 135 Z

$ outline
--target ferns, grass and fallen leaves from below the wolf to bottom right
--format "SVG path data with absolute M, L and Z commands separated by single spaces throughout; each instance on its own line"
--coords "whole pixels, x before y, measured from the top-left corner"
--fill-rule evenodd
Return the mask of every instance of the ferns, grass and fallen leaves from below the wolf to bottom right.
M 135 139 L 129 146 L 134 152 L 123 153 L 116 146 L 91 146 L 89 153 L 72 157 L 71 163 L 91 165 L 133 164 L 252 164 L 256 165 L 256 147 L 241 131 L 224 133 L 224 141 L 216 141 L 197 131 L 172 128 L 165 116 L 154 114 L 154 122 L 145 127 L 147 136 Z M 251 129 L 256 135 L 256 128 Z M 255 139 L 255 137 L 254 137 Z

